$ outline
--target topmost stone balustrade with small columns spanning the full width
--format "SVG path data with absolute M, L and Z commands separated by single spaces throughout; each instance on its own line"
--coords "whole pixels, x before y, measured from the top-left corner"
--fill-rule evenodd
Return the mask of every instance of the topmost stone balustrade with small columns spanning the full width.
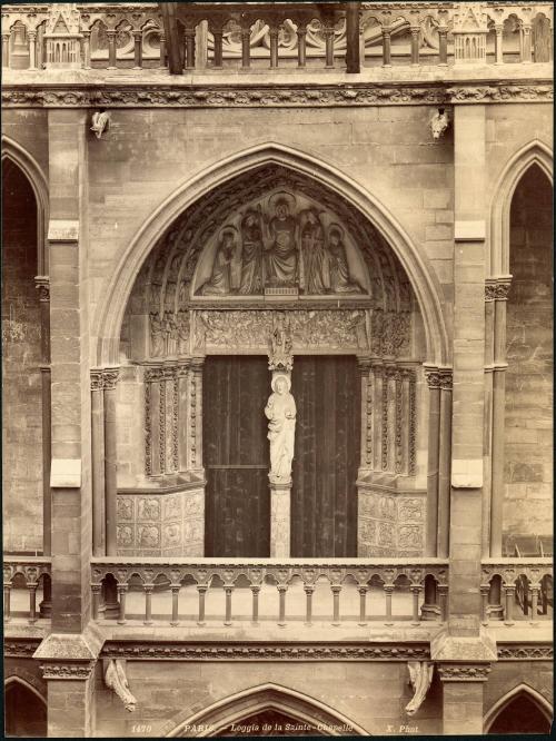
M 552 59 L 547 2 L 77 3 L 66 46 L 57 8 L 69 6 L 2 7 L 4 68 L 357 72 Z

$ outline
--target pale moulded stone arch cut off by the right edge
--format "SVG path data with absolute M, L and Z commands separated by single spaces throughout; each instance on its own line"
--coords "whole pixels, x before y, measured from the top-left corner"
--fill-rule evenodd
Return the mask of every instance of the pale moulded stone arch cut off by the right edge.
M 487 275 L 509 275 L 509 211 L 517 184 L 524 172 L 537 164 L 553 182 L 553 152 L 539 139 L 529 141 L 506 162 L 495 187 L 490 206 L 490 248 Z

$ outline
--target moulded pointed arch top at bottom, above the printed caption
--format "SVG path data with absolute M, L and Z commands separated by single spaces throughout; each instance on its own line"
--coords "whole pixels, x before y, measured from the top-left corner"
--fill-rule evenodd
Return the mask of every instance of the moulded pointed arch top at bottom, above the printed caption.
M 315 730 L 321 729 L 325 735 L 369 735 L 367 730 L 318 700 L 271 682 L 242 690 L 192 715 L 180 713 L 162 728 L 161 735 L 217 737 L 232 723 L 240 723 L 265 710 L 275 710 L 300 724 L 310 725 Z M 199 730 L 191 732 L 191 728 Z M 290 735 L 295 735 L 295 732 Z

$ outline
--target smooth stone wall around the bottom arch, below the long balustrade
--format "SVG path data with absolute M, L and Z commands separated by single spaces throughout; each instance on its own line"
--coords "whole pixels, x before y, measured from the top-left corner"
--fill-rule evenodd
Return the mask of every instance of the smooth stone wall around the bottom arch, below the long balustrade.
M 324 703 L 370 734 L 404 734 L 403 725 L 417 727 L 413 732 L 423 735 L 441 733 L 437 678 L 417 715 L 405 714 L 413 696 L 405 662 L 128 661 L 127 678 L 137 698 L 132 715 L 97 680 L 97 735 L 166 735 L 172 720 L 185 721 L 219 700 L 269 682 Z

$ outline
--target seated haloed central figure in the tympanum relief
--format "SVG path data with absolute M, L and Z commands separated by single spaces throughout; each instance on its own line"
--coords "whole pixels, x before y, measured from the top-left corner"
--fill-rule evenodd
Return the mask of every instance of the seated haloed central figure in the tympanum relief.
M 268 223 L 270 246 L 265 255 L 267 283 L 271 286 L 295 286 L 298 279 L 297 221 L 290 214 L 288 194 L 278 194 L 275 216 Z

